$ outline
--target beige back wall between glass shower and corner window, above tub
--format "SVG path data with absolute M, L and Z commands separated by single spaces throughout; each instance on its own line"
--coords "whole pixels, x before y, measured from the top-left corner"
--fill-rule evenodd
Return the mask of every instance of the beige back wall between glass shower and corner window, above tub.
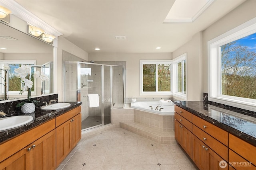
M 150 96 L 140 96 L 140 60 L 170 59 L 172 53 L 92 53 L 88 61 L 126 61 L 126 98 L 148 98 Z

